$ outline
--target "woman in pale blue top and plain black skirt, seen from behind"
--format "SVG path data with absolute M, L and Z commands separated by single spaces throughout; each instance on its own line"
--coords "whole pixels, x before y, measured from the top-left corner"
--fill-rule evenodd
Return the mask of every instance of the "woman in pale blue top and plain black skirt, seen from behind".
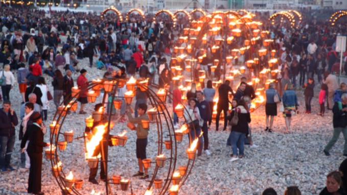
M 276 89 L 274 89 L 274 83 L 269 84 L 269 88 L 265 91 L 265 94 L 266 128 L 264 131 L 272 133 L 273 118 L 274 116 L 277 116 L 277 103 L 279 103 L 281 100 L 279 92 Z

